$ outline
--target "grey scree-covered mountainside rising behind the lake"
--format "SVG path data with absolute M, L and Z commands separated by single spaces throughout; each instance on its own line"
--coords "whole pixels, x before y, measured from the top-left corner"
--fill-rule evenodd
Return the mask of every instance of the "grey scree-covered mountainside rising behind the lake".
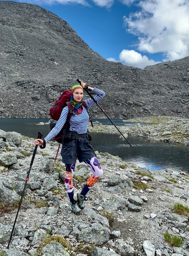
M 111 118 L 189 117 L 189 57 L 128 67 L 105 60 L 40 6 L 0 1 L 0 16 L 0 117 L 48 118 L 77 78 L 106 92 L 100 104 Z M 105 118 L 97 107 L 90 112 Z

